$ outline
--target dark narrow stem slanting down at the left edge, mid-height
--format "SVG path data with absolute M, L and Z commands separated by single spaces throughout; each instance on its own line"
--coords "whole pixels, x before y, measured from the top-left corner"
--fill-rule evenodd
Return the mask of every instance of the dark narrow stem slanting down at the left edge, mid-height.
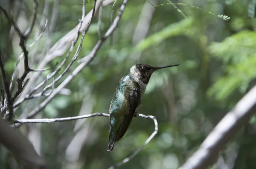
M 2 81 L 3 81 L 3 87 L 6 93 L 6 97 L 7 97 L 7 110 L 9 110 L 9 118 L 8 121 L 12 124 L 12 120 L 14 118 L 14 113 L 13 113 L 13 107 L 12 107 L 12 99 L 11 99 L 11 94 L 10 94 L 10 90 L 9 90 L 9 84 L 8 84 L 8 80 L 6 77 L 6 72 L 4 70 L 3 67 L 3 56 L 2 54 L 0 54 L 0 69 L 1 69 L 1 73 L 2 73 Z M 3 97 L 3 96 L 2 96 Z

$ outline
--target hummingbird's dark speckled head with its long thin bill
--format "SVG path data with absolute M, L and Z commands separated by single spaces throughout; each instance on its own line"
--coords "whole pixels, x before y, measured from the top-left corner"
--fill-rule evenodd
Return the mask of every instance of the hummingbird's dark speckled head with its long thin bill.
M 153 67 L 153 66 L 141 63 L 141 64 L 133 65 L 130 68 L 129 74 L 131 76 L 134 76 L 135 79 L 138 79 L 138 80 L 142 81 L 143 83 L 148 84 L 149 79 L 155 70 L 162 69 L 162 68 L 168 68 L 168 67 L 172 67 L 172 66 L 178 66 L 178 65 Z

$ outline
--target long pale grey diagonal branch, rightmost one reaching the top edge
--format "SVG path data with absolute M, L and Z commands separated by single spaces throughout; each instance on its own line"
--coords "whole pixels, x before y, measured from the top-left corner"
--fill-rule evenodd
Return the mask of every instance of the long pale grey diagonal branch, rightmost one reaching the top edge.
M 63 89 L 67 84 L 69 84 L 81 72 L 81 70 L 83 70 L 95 58 L 97 51 L 99 51 L 105 39 L 108 38 L 116 29 L 117 24 L 119 23 L 120 18 L 122 16 L 122 13 L 125 10 L 125 5 L 127 2 L 128 0 L 123 1 L 122 6 L 120 7 L 120 10 L 115 20 L 113 21 L 112 25 L 110 26 L 110 28 L 108 28 L 108 31 L 106 32 L 106 34 L 101 39 L 99 39 L 99 41 L 96 43 L 93 50 L 87 56 L 86 61 L 82 62 L 79 66 L 77 66 L 76 69 L 73 70 L 73 72 L 69 76 L 67 76 L 67 78 L 52 92 L 52 94 L 47 99 L 45 99 L 38 107 L 35 108 L 35 110 L 33 110 L 31 113 L 27 115 L 27 118 L 32 118 L 42 109 L 44 109 L 44 107 L 46 107 L 46 105 L 50 101 L 52 101 L 52 99 L 55 98 L 55 96 L 57 96 L 57 94 L 61 91 L 61 89 Z

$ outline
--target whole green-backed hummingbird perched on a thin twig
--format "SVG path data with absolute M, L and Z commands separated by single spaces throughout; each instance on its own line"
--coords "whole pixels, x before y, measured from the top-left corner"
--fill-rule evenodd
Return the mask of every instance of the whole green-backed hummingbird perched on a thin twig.
M 152 73 L 173 66 L 178 65 L 153 67 L 137 64 L 130 68 L 128 75 L 120 79 L 109 108 L 108 151 L 111 151 L 115 142 L 125 135 L 132 118 L 137 115 L 136 110 L 142 105 L 141 98 Z

